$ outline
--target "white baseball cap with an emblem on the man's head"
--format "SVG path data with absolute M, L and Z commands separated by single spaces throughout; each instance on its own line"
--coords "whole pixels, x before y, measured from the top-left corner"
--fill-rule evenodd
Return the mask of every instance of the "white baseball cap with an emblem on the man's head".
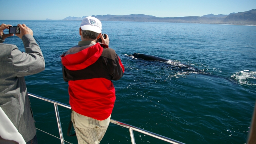
M 85 17 L 81 24 L 80 27 L 82 30 L 87 30 L 87 31 L 93 31 L 96 33 L 101 33 L 101 22 L 99 19 L 92 17 L 92 16 L 88 16 Z

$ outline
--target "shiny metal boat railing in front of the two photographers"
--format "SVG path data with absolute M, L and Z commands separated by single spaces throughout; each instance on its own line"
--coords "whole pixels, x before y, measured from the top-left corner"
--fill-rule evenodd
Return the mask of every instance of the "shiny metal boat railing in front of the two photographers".
M 56 137 L 56 136 L 54 136 L 54 135 L 52 135 L 52 134 L 49 134 L 49 133 L 47 133 L 47 132 L 45 132 L 45 131 L 43 131 L 43 130 L 40 130 L 40 131 L 45 132 L 45 133 L 47 133 L 47 134 L 49 134 L 49 135 L 51 135 L 51 136 L 54 136 L 54 137 L 56 137 L 56 138 L 59 138 L 60 141 L 61 141 L 61 144 L 64 144 L 65 142 L 67 142 L 67 141 L 64 140 L 63 133 L 62 133 L 62 128 L 61 128 L 61 123 L 60 123 L 60 116 L 59 116 L 58 105 L 59 105 L 59 106 L 66 107 L 66 108 L 68 108 L 68 109 L 71 109 L 70 105 L 67 105 L 67 104 L 64 104 L 64 103 L 61 103 L 61 102 L 58 102 L 58 101 L 54 101 L 54 100 L 51 100 L 51 99 L 48 99 L 48 98 L 44 98 L 44 97 L 41 97 L 41 96 L 38 96 L 38 95 L 35 95 L 35 94 L 31 94 L 31 93 L 28 93 L 28 95 L 31 96 L 31 97 L 34 97 L 34 98 L 37 98 L 37 99 L 40 99 L 40 100 L 43 100 L 43 101 L 48 101 L 48 102 L 54 104 L 55 114 L 56 114 L 57 125 L 58 125 L 58 129 L 59 129 L 60 137 Z M 156 134 L 156 133 L 153 133 L 153 132 L 144 130 L 144 129 L 140 129 L 140 128 L 137 128 L 137 127 L 134 127 L 134 126 L 131 126 L 131 125 L 122 123 L 122 122 L 118 122 L 118 121 L 113 120 L 113 119 L 110 119 L 110 122 L 113 123 L 113 124 L 122 126 L 122 127 L 124 127 L 124 128 L 128 128 L 128 129 L 129 129 L 129 132 L 130 132 L 132 144 L 136 144 L 136 143 L 135 143 L 134 134 L 133 134 L 133 130 L 138 131 L 138 132 L 141 132 L 141 133 L 146 134 L 146 135 L 149 135 L 149 136 L 152 136 L 152 137 L 155 137 L 155 138 L 158 138 L 158 139 L 160 139 L 160 140 L 163 140 L 163 141 L 172 143 L 172 144 L 184 144 L 184 143 L 179 142 L 179 141 L 176 141 L 176 140 L 174 140 L 174 139 L 171 139 L 171 138 L 168 138 L 168 137 L 165 137 L 165 136 L 162 136 L 162 135 L 159 135 L 159 134 Z M 39 130 L 39 129 L 38 129 L 38 130 Z M 70 143 L 70 142 L 67 142 L 67 143 Z M 70 144 L 71 144 L 71 143 L 70 143 Z

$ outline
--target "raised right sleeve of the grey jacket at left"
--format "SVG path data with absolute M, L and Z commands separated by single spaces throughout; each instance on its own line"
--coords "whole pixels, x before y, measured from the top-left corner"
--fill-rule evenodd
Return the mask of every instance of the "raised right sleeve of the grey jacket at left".
M 42 72 L 45 70 L 43 53 L 31 35 L 22 36 L 25 53 L 18 50 L 17 46 L 12 50 L 12 61 L 17 77 Z

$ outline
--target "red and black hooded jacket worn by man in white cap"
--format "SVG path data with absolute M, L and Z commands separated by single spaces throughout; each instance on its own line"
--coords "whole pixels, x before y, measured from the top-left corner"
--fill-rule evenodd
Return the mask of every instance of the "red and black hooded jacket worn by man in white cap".
M 112 80 L 120 79 L 124 73 L 124 66 L 115 51 L 96 43 L 74 54 L 62 54 L 61 61 L 64 81 L 69 84 L 72 109 L 97 120 L 107 119 L 115 101 Z

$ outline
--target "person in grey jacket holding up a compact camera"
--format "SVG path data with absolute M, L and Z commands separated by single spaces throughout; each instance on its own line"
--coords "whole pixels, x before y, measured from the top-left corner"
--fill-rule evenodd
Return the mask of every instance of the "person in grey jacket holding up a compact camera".
M 13 34 L 3 30 L 11 25 L 0 25 L 0 106 L 12 121 L 27 144 L 36 144 L 36 127 L 28 98 L 24 76 L 45 70 L 42 51 L 33 37 L 33 31 L 25 24 L 18 24 L 16 34 L 24 44 L 25 52 L 4 39 Z

